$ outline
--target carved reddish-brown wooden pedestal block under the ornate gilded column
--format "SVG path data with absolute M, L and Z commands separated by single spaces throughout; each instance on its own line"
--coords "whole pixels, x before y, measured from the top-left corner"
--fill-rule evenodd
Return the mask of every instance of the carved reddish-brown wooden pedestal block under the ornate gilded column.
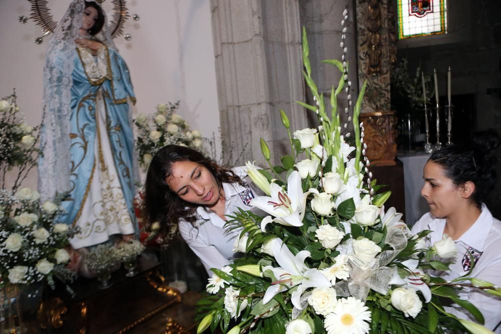
M 364 142 L 371 165 L 395 166 L 397 154 L 397 118 L 395 111 L 361 113 L 364 122 Z

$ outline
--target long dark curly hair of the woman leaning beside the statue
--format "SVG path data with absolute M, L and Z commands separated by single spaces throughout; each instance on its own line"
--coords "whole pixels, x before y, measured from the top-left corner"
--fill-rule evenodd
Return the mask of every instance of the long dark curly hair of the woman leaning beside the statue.
M 206 167 L 219 188 L 223 182 L 243 185 L 233 171 L 217 165 L 198 151 L 178 145 L 162 147 L 151 160 L 146 173 L 143 220 L 146 231 L 151 230 L 151 224 L 158 221 L 160 235 L 164 237 L 175 234 L 180 218 L 193 223 L 196 220 L 195 210 L 199 206 L 180 198 L 165 182 L 172 173 L 172 165 L 178 161 L 192 161 Z

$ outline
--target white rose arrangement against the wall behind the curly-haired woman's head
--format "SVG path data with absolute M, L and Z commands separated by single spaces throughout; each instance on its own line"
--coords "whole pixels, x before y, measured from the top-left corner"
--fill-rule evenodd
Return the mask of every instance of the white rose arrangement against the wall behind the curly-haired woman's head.
M 165 145 L 187 146 L 203 150 L 201 134 L 190 130 L 188 123 L 176 114 L 179 102 L 159 104 L 151 115 L 139 114 L 134 119 L 137 128 L 136 150 L 139 164 L 146 170 L 155 153 Z

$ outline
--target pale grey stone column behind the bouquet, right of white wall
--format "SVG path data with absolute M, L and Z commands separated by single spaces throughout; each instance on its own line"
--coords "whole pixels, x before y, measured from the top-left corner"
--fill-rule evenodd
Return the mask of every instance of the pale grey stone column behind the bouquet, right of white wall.
M 298 0 L 211 0 L 211 12 L 223 153 L 266 167 L 260 137 L 276 162 L 289 152 L 280 109 L 306 127 Z

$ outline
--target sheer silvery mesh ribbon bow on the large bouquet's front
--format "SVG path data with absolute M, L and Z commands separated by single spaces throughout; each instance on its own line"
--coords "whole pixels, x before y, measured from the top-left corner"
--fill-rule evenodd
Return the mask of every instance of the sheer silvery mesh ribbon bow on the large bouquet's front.
M 381 252 L 376 258 L 365 262 L 353 255 L 348 259 L 350 277 L 334 285 L 340 297 L 353 296 L 365 301 L 370 289 L 385 295 L 393 276 L 393 270 L 386 265 L 391 262 L 406 246 L 407 236 L 398 228 L 388 230 L 385 244 L 393 249 Z

